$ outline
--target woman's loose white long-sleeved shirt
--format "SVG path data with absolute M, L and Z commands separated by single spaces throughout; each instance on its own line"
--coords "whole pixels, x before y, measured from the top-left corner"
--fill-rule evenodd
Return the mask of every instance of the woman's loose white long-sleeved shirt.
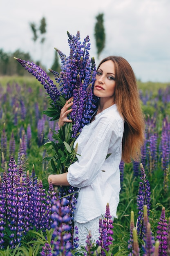
M 78 161 L 68 168 L 67 181 L 81 188 L 78 193 L 74 221 L 84 223 L 105 215 L 106 204 L 116 217 L 119 203 L 122 137 L 124 120 L 116 104 L 96 115 L 83 127 L 74 142 L 78 143 Z M 108 153 L 112 153 L 107 159 Z

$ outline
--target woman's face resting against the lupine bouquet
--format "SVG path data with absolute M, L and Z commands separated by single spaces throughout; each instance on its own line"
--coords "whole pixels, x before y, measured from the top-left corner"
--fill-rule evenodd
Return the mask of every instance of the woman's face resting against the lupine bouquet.
M 97 70 L 94 82 L 94 95 L 105 100 L 114 101 L 115 92 L 115 67 L 113 61 L 103 62 Z

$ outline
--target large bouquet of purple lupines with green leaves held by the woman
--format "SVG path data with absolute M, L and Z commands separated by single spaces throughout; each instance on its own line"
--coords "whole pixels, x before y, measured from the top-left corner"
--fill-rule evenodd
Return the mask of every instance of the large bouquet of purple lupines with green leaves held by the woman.
M 60 117 L 60 110 L 66 101 L 74 97 L 74 104 L 69 118 L 72 123 L 67 123 L 54 133 L 54 141 L 45 144 L 46 148 L 53 151 L 53 156 L 48 157 L 55 173 L 67 172 L 70 164 L 77 160 L 76 149 L 73 148 L 74 141 L 78 137 L 83 126 L 89 123 L 96 110 L 98 99 L 93 94 L 93 84 L 96 76 L 94 58 L 89 58 L 89 36 L 83 43 L 80 41 L 80 32 L 76 36 L 68 34 L 70 54 L 66 56 L 56 49 L 61 59 L 60 74 L 54 70 L 50 72 L 54 75 L 56 84 L 39 66 L 29 61 L 16 60 L 33 74 L 47 91 L 50 107 L 44 111 L 51 120 Z

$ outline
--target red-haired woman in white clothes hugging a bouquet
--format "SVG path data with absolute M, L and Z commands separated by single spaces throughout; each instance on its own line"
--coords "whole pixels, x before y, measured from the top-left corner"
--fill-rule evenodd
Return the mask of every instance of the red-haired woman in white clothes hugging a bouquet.
M 112 218 L 119 203 L 121 159 L 138 160 L 144 141 L 144 119 L 140 107 L 136 79 L 130 64 L 122 57 L 109 56 L 98 65 L 94 95 L 98 109 L 90 124 L 84 126 L 76 139 L 78 161 L 68 173 L 49 175 L 54 185 L 80 188 L 74 225 L 78 227 L 79 246 L 85 245 L 89 231 L 98 239 L 99 218 L 105 215 L 107 202 Z M 63 126 L 72 111 L 71 99 L 60 113 Z M 107 157 L 107 154 L 111 154 Z

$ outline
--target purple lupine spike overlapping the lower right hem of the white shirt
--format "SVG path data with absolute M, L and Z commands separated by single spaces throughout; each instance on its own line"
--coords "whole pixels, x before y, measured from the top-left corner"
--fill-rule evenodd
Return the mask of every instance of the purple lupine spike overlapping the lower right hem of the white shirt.
M 110 215 L 110 207 L 107 203 L 106 205 L 106 213 L 105 218 L 102 220 L 99 220 L 99 233 L 101 234 L 99 237 L 99 240 L 96 240 L 97 245 L 101 245 L 101 255 L 105 256 L 105 252 L 102 250 L 105 249 L 107 252 L 109 252 L 109 245 L 112 244 L 112 235 L 113 235 L 113 220 L 111 220 L 112 216 Z

